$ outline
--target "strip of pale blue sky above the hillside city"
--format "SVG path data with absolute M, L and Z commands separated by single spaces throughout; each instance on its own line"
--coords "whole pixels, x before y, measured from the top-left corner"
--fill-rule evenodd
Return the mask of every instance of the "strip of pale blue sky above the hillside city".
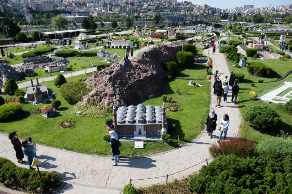
M 288 5 L 292 4 L 292 0 L 244 0 L 244 1 L 237 1 L 237 0 L 187 0 L 191 1 L 194 5 L 203 5 L 207 4 L 211 7 L 216 7 L 220 9 L 225 8 L 235 8 L 243 7 L 244 5 L 254 5 L 254 8 L 262 8 L 268 7 L 271 3 L 271 6 L 279 6 L 279 5 Z M 183 0 L 177 0 L 177 2 L 183 2 Z

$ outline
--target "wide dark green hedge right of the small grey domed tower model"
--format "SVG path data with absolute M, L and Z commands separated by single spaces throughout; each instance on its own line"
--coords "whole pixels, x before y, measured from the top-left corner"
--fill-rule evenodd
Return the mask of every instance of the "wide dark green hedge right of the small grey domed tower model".
M 277 74 L 277 72 L 273 68 L 261 63 L 248 65 L 247 71 L 249 74 L 257 75 L 260 77 L 274 77 Z

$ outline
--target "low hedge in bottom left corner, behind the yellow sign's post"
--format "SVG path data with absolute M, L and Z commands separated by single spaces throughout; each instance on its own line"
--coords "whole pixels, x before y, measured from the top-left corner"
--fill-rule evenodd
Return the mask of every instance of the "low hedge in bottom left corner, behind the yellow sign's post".
M 27 189 L 28 191 L 55 189 L 62 183 L 58 173 L 41 171 L 43 182 L 38 171 L 16 166 L 6 158 L 0 158 L 0 182 L 5 186 Z

